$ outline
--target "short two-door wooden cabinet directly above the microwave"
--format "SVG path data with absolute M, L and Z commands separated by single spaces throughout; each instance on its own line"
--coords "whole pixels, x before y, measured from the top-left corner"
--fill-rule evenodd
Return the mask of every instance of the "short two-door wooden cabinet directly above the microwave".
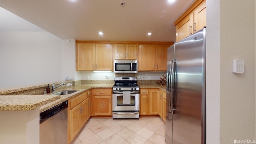
M 114 44 L 114 59 L 137 60 L 137 44 Z

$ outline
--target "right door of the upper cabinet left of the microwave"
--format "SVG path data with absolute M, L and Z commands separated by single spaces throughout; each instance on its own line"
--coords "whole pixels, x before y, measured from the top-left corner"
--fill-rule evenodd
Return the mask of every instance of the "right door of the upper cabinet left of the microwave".
M 96 44 L 95 70 L 113 70 L 112 44 Z

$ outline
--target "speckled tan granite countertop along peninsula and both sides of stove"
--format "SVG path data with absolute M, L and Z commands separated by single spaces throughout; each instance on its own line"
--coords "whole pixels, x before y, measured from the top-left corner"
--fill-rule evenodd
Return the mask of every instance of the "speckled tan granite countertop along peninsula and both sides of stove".
M 156 85 L 156 84 L 140 84 L 140 88 L 159 88 L 165 91 L 166 86 Z M 91 88 L 112 88 L 113 84 L 82 84 L 80 86 L 70 86 L 65 90 L 78 90 L 72 94 L 67 95 L 1 95 L 0 96 L 0 110 L 10 111 L 10 110 L 34 110 L 40 108 L 40 112 L 44 112 L 49 108 L 52 108 L 86 90 Z M 56 92 L 62 91 L 59 89 Z M 11 91 L 11 90 L 10 90 Z

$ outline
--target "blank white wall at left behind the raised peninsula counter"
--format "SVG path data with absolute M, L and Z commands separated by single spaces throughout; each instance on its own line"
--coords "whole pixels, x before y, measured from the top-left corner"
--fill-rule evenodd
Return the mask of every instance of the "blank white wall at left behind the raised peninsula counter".
M 61 47 L 49 32 L 0 31 L 0 88 L 60 81 Z

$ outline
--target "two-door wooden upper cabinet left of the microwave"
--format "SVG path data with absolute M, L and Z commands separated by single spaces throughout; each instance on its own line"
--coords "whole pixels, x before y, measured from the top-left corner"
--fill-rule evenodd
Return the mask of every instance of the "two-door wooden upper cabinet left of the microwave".
M 77 70 L 113 70 L 112 44 L 77 44 Z

